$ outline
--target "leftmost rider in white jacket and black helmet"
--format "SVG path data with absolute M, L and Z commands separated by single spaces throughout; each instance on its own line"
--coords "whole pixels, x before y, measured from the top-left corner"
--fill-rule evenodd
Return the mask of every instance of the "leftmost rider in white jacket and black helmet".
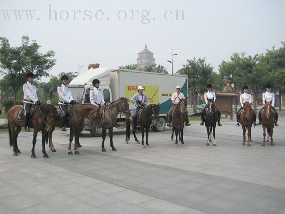
M 29 118 L 30 118 L 30 111 L 34 104 L 40 105 L 41 102 L 37 96 L 37 87 L 33 85 L 34 81 L 34 74 L 32 72 L 28 72 L 26 74 L 27 83 L 23 85 L 23 92 L 24 92 L 24 100 L 23 100 L 23 107 L 25 111 L 25 122 L 24 127 L 25 131 L 29 132 Z

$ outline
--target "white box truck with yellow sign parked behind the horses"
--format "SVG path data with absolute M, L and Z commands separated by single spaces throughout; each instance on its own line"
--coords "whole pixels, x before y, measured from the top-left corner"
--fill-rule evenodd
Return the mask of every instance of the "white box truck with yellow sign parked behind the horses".
M 100 89 L 103 90 L 103 96 L 106 103 L 117 100 L 119 97 L 126 97 L 128 100 L 137 93 L 137 87 L 143 86 L 144 93 L 148 97 L 148 104 L 159 104 L 160 118 L 153 121 L 152 129 L 154 131 L 163 131 L 165 129 L 167 112 L 172 106 L 171 96 L 177 85 L 181 86 L 181 92 L 187 96 L 188 80 L 186 75 L 171 75 L 153 72 L 143 72 L 139 70 L 97 68 L 90 69 L 74 78 L 69 87 L 72 91 L 73 99 L 77 103 L 90 103 L 89 93 L 93 89 L 92 81 L 100 80 Z M 129 102 L 130 109 L 134 104 Z M 116 128 L 125 128 L 125 115 L 119 114 L 117 117 Z M 85 126 L 83 130 L 90 130 L 93 136 L 100 136 L 102 130 L 90 129 Z

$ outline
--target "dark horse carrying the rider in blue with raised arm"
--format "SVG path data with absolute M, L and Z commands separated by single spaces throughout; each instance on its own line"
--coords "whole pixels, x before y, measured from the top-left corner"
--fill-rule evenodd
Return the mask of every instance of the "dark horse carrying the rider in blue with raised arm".
M 134 124 L 134 130 L 132 131 L 134 137 L 135 137 L 135 141 L 139 144 L 139 140 L 136 136 L 136 129 L 139 126 L 142 132 L 142 147 L 150 147 L 150 145 L 148 144 L 148 132 L 149 132 L 149 128 L 152 122 L 153 117 L 155 119 L 159 118 L 159 103 L 158 104 L 150 104 L 146 107 L 144 107 L 142 109 L 142 112 L 140 115 L 138 115 L 138 124 L 137 122 Z M 146 133 L 145 133 L 145 137 L 146 137 L 146 146 L 144 145 L 144 129 L 146 129 Z M 127 122 L 127 126 L 126 126 L 126 132 L 127 132 L 127 136 L 126 136 L 126 144 L 128 143 L 128 140 L 130 140 L 130 121 Z

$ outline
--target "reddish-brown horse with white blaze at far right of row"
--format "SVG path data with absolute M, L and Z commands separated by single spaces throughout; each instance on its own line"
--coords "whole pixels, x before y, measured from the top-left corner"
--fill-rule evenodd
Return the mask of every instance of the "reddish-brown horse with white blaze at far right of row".
M 275 126 L 274 121 L 274 112 L 272 110 L 272 101 L 266 102 L 264 105 L 264 111 L 261 113 L 261 122 L 262 122 L 262 128 L 263 128 L 263 142 L 261 146 L 265 146 L 265 136 L 266 136 L 266 130 L 267 129 L 267 142 L 269 142 L 269 136 L 271 140 L 271 145 L 274 145 L 273 142 L 273 128 Z

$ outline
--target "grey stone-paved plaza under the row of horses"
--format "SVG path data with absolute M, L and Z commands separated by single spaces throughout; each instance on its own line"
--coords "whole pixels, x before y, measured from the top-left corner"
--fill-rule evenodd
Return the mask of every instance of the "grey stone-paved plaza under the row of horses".
M 171 129 L 149 133 L 151 148 L 125 144 L 114 131 L 114 146 L 83 131 L 79 155 L 68 155 L 69 134 L 55 131 L 56 152 L 48 147 L 31 159 L 32 133 L 21 132 L 19 156 L 7 133 L 0 134 L 0 213 L 285 213 L 285 117 L 274 128 L 275 146 L 261 147 L 263 130 L 252 130 L 252 146 L 242 146 L 242 128 L 222 120 L 217 147 L 206 146 L 199 122 L 185 128 L 185 147 L 174 147 Z M 141 140 L 140 133 L 138 133 Z

